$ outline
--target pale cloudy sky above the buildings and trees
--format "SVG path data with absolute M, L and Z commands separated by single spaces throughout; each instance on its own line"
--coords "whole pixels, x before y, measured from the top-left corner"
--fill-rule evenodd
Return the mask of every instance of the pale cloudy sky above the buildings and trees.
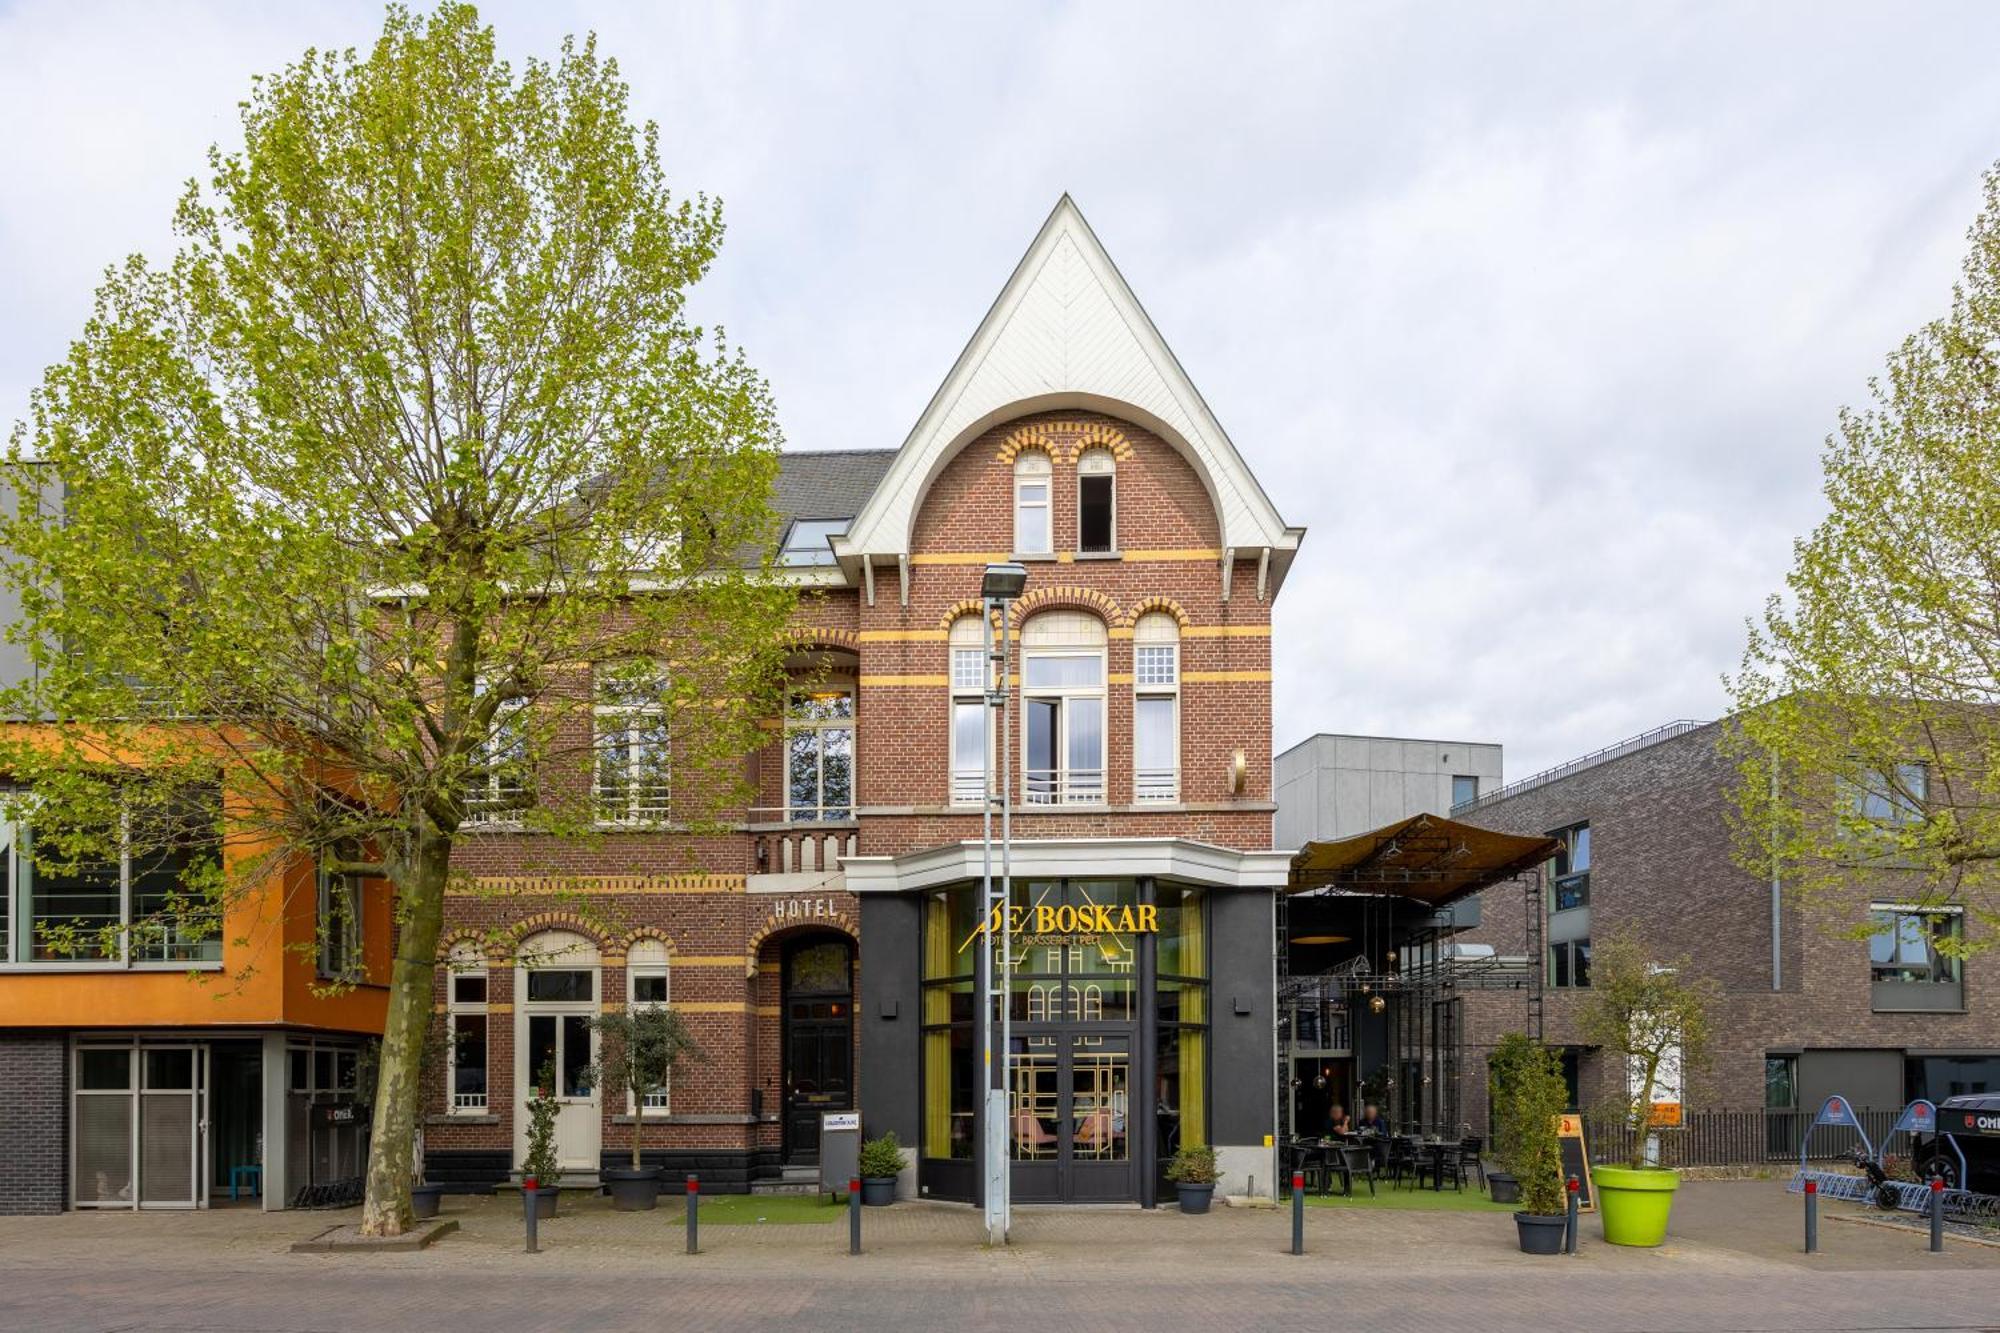
M 794 448 L 896 444 L 1070 190 L 1290 522 L 1276 741 L 1722 709 L 1844 402 L 1950 294 L 2000 6 L 488 4 L 596 30 Z M 374 4 L 0 2 L 0 418 L 248 80 Z

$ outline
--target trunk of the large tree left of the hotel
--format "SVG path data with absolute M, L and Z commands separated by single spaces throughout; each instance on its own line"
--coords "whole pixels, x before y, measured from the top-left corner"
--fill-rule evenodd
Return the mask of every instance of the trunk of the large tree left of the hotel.
M 362 1235 L 402 1235 L 410 1229 L 410 1183 L 416 1165 L 416 1125 L 424 1111 L 422 1059 L 430 1031 L 430 989 L 444 929 L 444 881 L 452 841 L 430 833 L 408 863 L 408 883 L 396 885 L 396 967 L 382 1027 L 374 1135 L 368 1141 L 368 1195 Z

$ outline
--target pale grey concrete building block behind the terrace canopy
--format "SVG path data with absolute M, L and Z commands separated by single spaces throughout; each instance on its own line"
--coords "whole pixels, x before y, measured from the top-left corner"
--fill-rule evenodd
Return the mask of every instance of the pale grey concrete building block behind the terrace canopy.
M 1320 733 L 1272 761 L 1278 847 L 1346 839 L 1410 815 L 1450 815 L 1500 787 L 1500 747 Z

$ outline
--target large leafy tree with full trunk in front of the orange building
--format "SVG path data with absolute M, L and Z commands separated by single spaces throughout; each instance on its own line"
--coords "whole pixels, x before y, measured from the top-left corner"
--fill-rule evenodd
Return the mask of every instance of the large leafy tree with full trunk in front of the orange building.
M 0 761 L 100 843 L 136 789 L 220 783 L 236 851 L 182 917 L 300 857 L 392 885 L 362 1227 L 394 1235 L 466 829 L 556 857 L 664 815 L 668 757 L 676 825 L 744 803 L 794 606 L 746 554 L 778 428 L 688 318 L 720 206 L 668 190 L 594 40 L 512 68 L 470 6 L 390 8 L 256 80 L 174 222 L 12 440 L 62 522 L 0 524 L 38 658 L 8 705 L 66 725 Z

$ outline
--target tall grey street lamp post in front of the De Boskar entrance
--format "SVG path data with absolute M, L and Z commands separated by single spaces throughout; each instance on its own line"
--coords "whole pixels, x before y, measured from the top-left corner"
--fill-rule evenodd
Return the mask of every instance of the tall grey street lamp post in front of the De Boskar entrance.
M 1012 677 L 1012 638 L 1008 636 L 1008 604 L 1028 584 L 1020 564 L 988 564 L 980 580 L 980 624 L 986 644 L 986 799 L 980 823 L 980 905 L 986 917 L 986 949 L 980 951 L 980 999 L 986 1017 L 978 1027 L 984 1053 L 986 1087 L 986 1243 L 1006 1245 L 1012 1219 L 1014 1183 L 1006 1153 L 1008 1069 L 1012 1065 L 1014 1023 L 1010 1015 L 1014 983 L 1014 949 L 1006 929 L 1008 905 L 1014 899 L 1014 763 L 1008 747 L 1008 685 Z M 998 642 L 994 620 L 1000 622 Z M 994 751 L 1000 751 L 1000 781 L 994 783 Z M 1000 807 L 1000 887 L 994 891 L 994 805 Z M 994 1027 L 998 1021 L 998 1041 Z M 994 1059 L 994 1047 L 1000 1059 Z

